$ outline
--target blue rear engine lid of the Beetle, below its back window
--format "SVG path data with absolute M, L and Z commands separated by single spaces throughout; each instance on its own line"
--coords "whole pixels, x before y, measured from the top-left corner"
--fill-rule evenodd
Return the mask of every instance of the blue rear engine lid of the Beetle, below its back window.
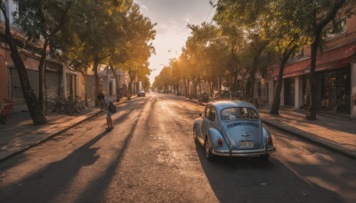
M 258 120 L 236 120 L 223 124 L 225 136 L 232 150 L 259 149 L 263 141 L 262 126 Z M 240 147 L 240 142 L 253 142 L 253 147 Z

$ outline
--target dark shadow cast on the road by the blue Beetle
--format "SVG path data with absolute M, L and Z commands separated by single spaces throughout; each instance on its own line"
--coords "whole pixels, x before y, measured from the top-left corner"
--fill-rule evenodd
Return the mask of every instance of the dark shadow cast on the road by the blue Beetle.
M 218 158 L 209 162 L 200 145 L 196 150 L 221 202 L 343 202 L 334 191 L 309 183 L 273 156 L 264 164 L 259 158 Z

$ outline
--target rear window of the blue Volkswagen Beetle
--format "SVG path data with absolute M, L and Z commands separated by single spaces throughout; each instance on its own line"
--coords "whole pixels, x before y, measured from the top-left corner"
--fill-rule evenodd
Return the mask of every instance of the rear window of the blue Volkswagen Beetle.
M 258 120 L 257 112 L 247 107 L 233 107 L 222 110 L 222 120 L 249 119 Z

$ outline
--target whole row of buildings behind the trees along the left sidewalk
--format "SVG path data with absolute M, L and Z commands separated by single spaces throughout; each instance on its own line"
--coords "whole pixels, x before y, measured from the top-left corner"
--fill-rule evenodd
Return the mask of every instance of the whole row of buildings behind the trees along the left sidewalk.
M 7 16 L 10 18 L 12 37 L 18 45 L 20 57 L 27 69 L 28 80 L 31 87 L 34 89 L 36 96 L 39 92 L 39 73 L 38 65 L 40 61 L 40 53 L 43 47 L 43 42 L 39 40 L 36 43 L 28 42 L 27 37 L 21 34 L 20 28 L 12 24 L 12 12 L 17 11 L 18 4 L 12 0 L 5 0 Z M 4 33 L 4 16 L 0 12 L 0 32 Z M 21 90 L 20 79 L 17 69 L 11 58 L 11 51 L 4 41 L 4 37 L 0 37 L 0 102 L 6 98 L 14 100 L 14 110 L 27 110 L 27 105 Z M 81 73 L 72 69 L 68 65 L 51 59 L 51 56 L 46 57 L 44 71 L 44 88 L 46 97 L 65 97 L 77 98 L 79 100 L 93 100 L 96 98 L 95 77 L 93 72 Z M 99 91 L 105 91 L 109 95 L 116 95 L 116 79 L 109 69 L 108 65 L 99 65 Z M 118 77 L 118 85 L 121 95 L 126 95 L 129 77 L 124 70 L 115 70 Z M 135 93 L 136 85 L 133 86 Z M 125 93 L 125 94 L 124 94 Z

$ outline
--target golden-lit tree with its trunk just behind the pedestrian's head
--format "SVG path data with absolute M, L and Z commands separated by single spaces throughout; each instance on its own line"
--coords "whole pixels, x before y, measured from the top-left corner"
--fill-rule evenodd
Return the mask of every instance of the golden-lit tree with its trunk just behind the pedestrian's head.
M 88 0 L 76 1 L 69 10 L 67 28 L 61 32 L 58 45 L 69 65 L 84 71 L 93 67 L 95 94 L 99 93 L 98 65 L 108 61 L 112 49 L 123 45 L 123 19 L 131 5 L 127 0 Z

